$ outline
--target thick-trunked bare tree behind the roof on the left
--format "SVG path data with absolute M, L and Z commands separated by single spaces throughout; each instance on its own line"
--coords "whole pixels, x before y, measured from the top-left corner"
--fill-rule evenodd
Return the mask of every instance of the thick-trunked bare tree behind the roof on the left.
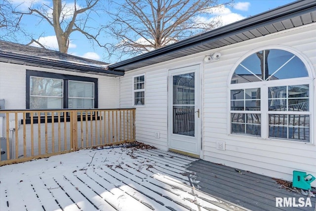
M 79 32 L 87 39 L 98 42 L 97 36 L 90 33 L 94 28 L 87 26 L 87 23 L 90 19 L 90 14 L 96 12 L 96 6 L 99 1 L 100 0 L 74 0 L 73 4 L 67 4 L 69 1 L 52 0 L 52 6 L 43 3 L 40 7 L 35 8 L 31 6 L 28 12 L 15 11 L 15 14 L 35 15 L 40 18 L 40 21 L 46 21 L 55 31 L 59 51 L 67 53 L 70 35 L 73 32 Z M 32 38 L 29 44 L 33 42 L 45 48 L 45 46 L 39 42 L 39 39 Z

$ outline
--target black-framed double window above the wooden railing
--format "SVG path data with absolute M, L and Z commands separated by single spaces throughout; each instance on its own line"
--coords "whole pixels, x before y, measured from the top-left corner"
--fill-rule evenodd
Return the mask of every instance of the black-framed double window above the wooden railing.
M 98 107 L 98 80 L 95 78 L 27 70 L 26 85 L 27 109 Z

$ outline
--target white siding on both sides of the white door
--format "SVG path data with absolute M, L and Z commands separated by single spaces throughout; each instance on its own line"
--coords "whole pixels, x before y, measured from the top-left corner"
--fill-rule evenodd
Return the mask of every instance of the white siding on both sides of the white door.
M 132 105 L 132 76 L 146 73 L 146 106 L 136 107 L 136 139 L 167 149 L 168 69 L 197 64 L 205 55 L 218 51 L 222 54 L 220 61 L 204 63 L 202 68 L 202 158 L 286 180 L 292 179 L 293 170 L 307 171 L 316 176 L 315 79 L 311 144 L 229 135 L 227 108 L 229 74 L 240 58 L 259 47 L 282 45 L 301 52 L 315 72 L 315 34 L 316 24 L 311 24 L 130 71 L 120 78 L 120 106 Z M 160 138 L 154 137 L 155 131 L 160 132 Z M 225 141 L 226 150 L 216 149 L 216 141 Z M 316 182 L 312 185 L 316 186 Z

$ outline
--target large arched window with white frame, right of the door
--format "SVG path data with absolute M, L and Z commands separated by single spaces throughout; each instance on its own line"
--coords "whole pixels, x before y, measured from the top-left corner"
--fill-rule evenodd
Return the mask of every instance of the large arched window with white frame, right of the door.
M 283 49 L 252 53 L 230 81 L 230 133 L 311 142 L 313 79 Z

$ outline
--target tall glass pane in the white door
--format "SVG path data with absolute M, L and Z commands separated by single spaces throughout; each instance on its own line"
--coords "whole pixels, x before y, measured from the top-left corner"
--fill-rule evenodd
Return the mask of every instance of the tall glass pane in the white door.
M 195 73 L 173 76 L 173 133 L 195 136 Z

